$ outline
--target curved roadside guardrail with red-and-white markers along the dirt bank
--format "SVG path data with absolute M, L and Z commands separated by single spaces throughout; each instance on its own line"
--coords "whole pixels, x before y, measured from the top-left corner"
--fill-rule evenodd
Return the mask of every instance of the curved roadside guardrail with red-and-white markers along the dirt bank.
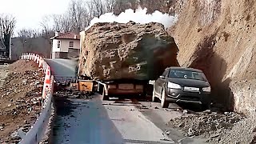
M 38 54 L 26 53 L 22 54 L 21 59 L 31 60 L 38 63 L 38 67 L 42 68 L 45 75 L 45 81 L 42 90 L 42 98 L 44 102 L 42 105 L 42 112 L 38 117 L 37 121 L 34 123 L 34 126 L 26 133 L 26 136 L 22 138 L 22 141 L 19 144 L 36 144 L 42 141 L 46 131 L 46 127 L 49 122 L 52 98 L 54 92 L 54 76 L 50 75 L 50 66 L 44 61 L 44 59 Z

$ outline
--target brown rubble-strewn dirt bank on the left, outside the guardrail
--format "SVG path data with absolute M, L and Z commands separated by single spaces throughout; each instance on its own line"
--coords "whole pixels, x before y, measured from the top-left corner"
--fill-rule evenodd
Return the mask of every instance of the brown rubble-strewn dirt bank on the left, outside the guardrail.
M 17 143 L 41 112 L 44 74 L 34 62 L 24 60 L 1 67 L 0 143 Z

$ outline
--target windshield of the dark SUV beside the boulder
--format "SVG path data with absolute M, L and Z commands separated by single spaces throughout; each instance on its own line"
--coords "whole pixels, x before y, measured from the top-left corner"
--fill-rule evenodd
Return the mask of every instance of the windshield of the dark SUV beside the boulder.
M 207 81 L 205 74 L 190 70 L 170 70 L 169 78 L 186 78 Z

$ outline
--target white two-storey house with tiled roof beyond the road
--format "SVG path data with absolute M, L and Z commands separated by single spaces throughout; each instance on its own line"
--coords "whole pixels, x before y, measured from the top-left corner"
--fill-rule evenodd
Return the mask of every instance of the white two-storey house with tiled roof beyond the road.
M 80 36 L 73 33 L 55 32 L 52 46 L 52 58 L 78 58 L 80 54 Z

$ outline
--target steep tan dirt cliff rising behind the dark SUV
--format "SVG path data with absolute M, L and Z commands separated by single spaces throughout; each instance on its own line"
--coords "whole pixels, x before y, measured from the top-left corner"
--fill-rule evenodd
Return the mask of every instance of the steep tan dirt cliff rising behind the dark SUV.
M 253 87 L 256 3 L 249 0 L 186 0 L 170 29 L 178 62 L 203 70 L 215 102 L 247 115 L 255 113 Z M 246 82 L 246 83 L 245 83 Z M 246 93 L 244 93 L 246 90 Z

